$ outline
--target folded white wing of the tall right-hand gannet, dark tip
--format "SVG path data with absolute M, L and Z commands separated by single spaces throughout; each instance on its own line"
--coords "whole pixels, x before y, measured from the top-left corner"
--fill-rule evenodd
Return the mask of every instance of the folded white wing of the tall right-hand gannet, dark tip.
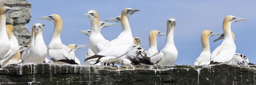
M 214 56 L 214 54 L 211 54 L 211 60 L 210 60 L 211 63 L 210 64 L 214 64 L 214 63 L 219 64 L 222 62 L 230 62 L 233 59 L 235 52 L 236 52 L 236 47 L 233 47 L 230 45 L 223 45 L 218 50 L 218 52 L 215 56 Z

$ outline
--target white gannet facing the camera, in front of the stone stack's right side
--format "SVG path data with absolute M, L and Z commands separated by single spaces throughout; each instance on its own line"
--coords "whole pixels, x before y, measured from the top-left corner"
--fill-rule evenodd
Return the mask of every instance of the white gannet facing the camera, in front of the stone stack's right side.
M 47 55 L 47 47 L 43 39 L 43 26 L 41 23 L 35 23 L 34 28 L 34 45 L 23 51 L 21 55 L 21 63 L 44 62 Z

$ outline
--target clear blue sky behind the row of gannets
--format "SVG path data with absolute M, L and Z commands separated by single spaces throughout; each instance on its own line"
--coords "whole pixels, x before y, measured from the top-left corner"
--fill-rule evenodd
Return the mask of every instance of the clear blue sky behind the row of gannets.
M 256 1 L 255 0 L 27 0 L 32 3 L 32 17 L 27 27 L 31 31 L 34 23 L 46 24 L 43 31 L 45 44 L 48 45 L 53 33 L 53 23 L 39 20 L 38 17 L 58 14 L 63 20 L 61 40 L 63 44 L 71 43 L 88 45 L 88 36 L 79 30 L 89 30 L 90 20 L 83 16 L 89 10 L 98 12 L 99 20 L 104 21 L 121 14 L 124 8 L 140 9 L 130 17 L 133 36 L 141 38 L 141 47 L 148 49 L 148 34 L 151 30 L 166 32 L 166 22 L 169 18 L 176 19 L 174 43 L 178 50 L 178 58 L 174 64 L 193 65 L 202 51 L 201 33 L 211 30 L 222 34 L 223 19 L 227 15 L 245 18 L 247 21 L 236 22 L 231 25 L 235 34 L 237 53 L 245 54 L 251 63 L 256 63 Z M 107 22 L 115 23 L 115 22 Z M 101 34 L 108 40 L 115 39 L 121 32 L 121 26 L 106 27 Z M 165 36 L 157 38 L 158 50 L 165 44 Z M 210 37 L 211 51 L 219 46 L 222 40 L 212 43 L 218 36 Z M 75 51 L 76 57 L 83 60 L 89 47 Z

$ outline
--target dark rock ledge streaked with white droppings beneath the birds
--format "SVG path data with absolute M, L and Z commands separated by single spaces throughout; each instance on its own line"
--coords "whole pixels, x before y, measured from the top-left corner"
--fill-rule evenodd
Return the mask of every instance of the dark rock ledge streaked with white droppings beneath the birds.
M 242 85 L 256 84 L 256 66 L 89 66 L 12 64 L 0 70 L 1 85 Z

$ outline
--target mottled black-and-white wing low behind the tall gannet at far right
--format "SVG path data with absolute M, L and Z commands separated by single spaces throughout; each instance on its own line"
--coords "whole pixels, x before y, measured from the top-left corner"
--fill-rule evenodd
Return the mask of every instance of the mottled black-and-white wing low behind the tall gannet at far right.
M 249 64 L 249 60 L 245 55 L 235 53 L 234 58 L 232 60 L 232 65 L 248 65 L 248 64 Z

